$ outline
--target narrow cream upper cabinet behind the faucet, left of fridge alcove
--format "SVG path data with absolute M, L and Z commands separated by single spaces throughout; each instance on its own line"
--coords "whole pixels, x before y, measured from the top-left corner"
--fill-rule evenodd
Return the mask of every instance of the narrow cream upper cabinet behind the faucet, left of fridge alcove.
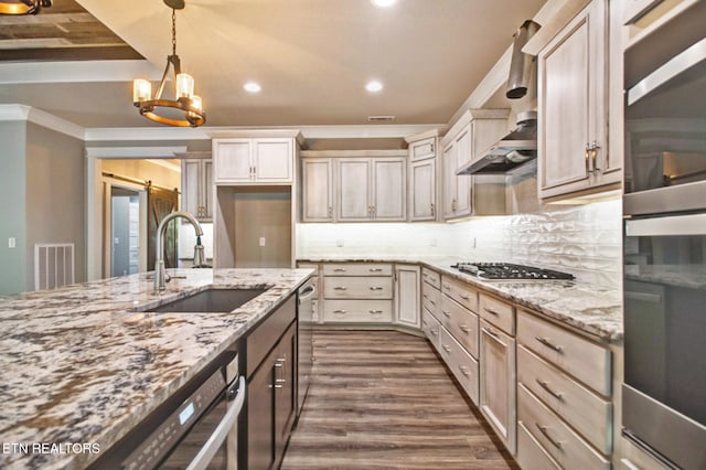
M 181 207 L 201 222 L 213 220 L 213 160 L 181 161 Z

